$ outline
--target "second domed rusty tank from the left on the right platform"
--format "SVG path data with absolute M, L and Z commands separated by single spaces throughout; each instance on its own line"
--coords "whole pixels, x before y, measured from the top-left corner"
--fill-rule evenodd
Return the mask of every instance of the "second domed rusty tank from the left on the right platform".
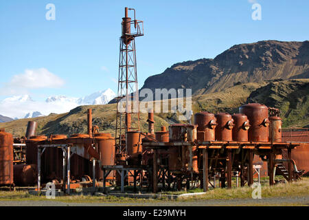
M 218 141 L 232 141 L 233 118 L 229 113 L 216 113 L 216 140 Z

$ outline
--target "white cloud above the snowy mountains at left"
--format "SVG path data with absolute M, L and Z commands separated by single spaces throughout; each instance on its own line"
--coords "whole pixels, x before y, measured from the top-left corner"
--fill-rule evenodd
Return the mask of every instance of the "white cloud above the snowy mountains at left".
M 25 69 L 23 74 L 12 76 L 10 82 L 1 88 L 0 94 L 29 94 L 30 89 L 58 88 L 62 85 L 65 85 L 65 81 L 45 68 Z

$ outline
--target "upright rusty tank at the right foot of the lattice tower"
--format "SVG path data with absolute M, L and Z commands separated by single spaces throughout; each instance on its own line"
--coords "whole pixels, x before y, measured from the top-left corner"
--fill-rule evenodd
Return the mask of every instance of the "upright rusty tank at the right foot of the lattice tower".
M 142 135 L 140 131 L 128 131 L 126 133 L 126 146 L 128 153 L 128 164 L 138 165 L 141 163 Z

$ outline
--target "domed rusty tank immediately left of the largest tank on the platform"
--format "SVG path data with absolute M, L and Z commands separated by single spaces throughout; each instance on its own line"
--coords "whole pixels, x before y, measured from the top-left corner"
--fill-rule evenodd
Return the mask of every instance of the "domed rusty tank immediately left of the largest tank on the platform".
M 233 114 L 234 126 L 232 129 L 233 141 L 235 142 L 247 142 L 248 141 L 248 130 L 250 128 L 249 120 L 247 115 L 244 114 Z

